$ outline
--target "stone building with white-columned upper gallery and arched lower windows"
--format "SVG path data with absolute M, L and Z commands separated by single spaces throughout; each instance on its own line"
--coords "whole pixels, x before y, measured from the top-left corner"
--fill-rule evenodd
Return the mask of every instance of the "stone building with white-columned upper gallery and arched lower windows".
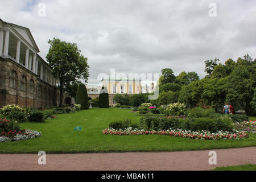
M 28 28 L 0 19 L 0 107 L 18 104 L 46 108 L 59 104 L 59 81 L 38 53 Z

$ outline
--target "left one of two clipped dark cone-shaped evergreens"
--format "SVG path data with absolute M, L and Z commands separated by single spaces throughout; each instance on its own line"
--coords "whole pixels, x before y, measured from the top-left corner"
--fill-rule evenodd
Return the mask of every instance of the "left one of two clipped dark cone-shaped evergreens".
M 81 109 L 89 109 L 88 94 L 84 84 L 80 84 L 77 88 L 76 104 L 81 104 Z

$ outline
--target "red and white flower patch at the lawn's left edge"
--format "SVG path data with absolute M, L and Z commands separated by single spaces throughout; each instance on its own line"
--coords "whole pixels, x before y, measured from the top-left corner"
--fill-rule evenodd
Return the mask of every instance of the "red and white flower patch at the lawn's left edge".
M 9 131 L 8 133 L 2 132 L 0 134 L 0 143 L 1 142 L 11 142 L 19 140 L 28 140 L 31 138 L 40 137 L 42 134 L 38 131 L 32 130 L 22 130 L 22 131 Z

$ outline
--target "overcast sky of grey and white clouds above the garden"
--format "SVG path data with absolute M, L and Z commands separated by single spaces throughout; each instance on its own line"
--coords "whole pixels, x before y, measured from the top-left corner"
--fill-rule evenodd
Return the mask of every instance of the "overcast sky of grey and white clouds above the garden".
M 40 3 L 46 16 L 38 15 Z M 209 16 L 210 3 L 216 16 Z M 1 0 L 0 18 L 30 28 L 42 57 L 49 39 L 77 43 L 88 57 L 89 83 L 111 68 L 126 74 L 172 68 L 203 78 L 205 60 L 256 58 L 254 0 Z

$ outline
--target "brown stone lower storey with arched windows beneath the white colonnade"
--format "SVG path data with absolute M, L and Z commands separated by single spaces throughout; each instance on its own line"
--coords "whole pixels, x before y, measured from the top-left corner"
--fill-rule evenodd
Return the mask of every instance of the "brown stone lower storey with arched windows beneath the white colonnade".
M 11 71 L 15 71 L 17 76 L 15 88 L 10 86 Z M 20 89 L 22 76 L 26 77 L 24 90 Z M 34 108 L 57 106 L 59 92 L 22 64 L 0 57 L 0 107 L 9 104 Z

